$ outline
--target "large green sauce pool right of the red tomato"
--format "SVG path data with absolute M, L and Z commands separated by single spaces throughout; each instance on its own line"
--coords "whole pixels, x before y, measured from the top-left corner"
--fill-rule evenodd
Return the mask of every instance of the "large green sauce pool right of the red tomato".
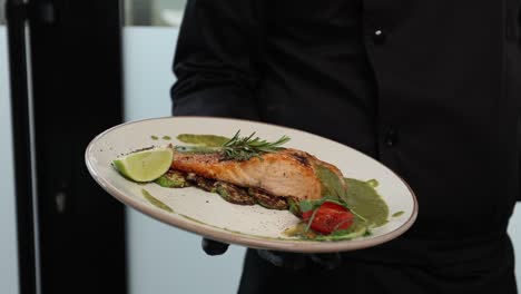
M 385 225 L 389 218 L 389 207 L 374 189 L 375 182 L 345 178 L 345 183 L 347 184 L 347 196 L 345 197 L 347 206 L 367 219 L 370 224 Z

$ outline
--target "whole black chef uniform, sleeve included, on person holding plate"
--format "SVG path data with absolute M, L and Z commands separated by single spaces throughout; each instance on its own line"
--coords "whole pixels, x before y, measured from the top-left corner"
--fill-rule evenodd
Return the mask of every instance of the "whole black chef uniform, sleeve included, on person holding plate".
M 248 251 L 242 293 L 515 292 L 519 11 L 519 0 L 188 1 L 175 116 L 328 137 L 394 169 L 419 199 L 405 235 L 344 253 L 336 271 L 275 268 Z

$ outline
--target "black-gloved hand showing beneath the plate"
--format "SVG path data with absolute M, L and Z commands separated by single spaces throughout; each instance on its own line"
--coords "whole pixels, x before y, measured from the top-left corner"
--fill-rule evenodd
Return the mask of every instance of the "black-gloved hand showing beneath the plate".
M 220 255 L 228 249 L 229 244 L 203 238 L 201 246 L 203 251 L 208 255 Z M 334 270 L 342 263 L 338 253 L 302 254 L 257 249 L 257 254 L 275 266 L 291 270 L 302 270 L 311 264 L 326 270 Z

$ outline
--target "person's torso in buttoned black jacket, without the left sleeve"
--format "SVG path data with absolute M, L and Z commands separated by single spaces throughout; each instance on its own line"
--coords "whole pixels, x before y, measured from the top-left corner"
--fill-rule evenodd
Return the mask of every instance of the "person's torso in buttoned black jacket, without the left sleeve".
M 420 207 L 405 239 L 505 234 L 519 196 L 518 0 L 325 2 L 269 2 L 263 120 L 401 175 Z

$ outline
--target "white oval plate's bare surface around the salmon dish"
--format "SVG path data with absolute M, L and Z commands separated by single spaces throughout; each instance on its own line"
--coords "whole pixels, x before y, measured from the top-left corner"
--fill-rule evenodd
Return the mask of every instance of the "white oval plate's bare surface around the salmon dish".
M 234 205 L 217 194 L 189 187 L 164 188 L 156 184 L 137 184 L 121 177 L 111 161 L 122 154 L 149 147 L 164 146 L 176 140 L 179 134 L 212 134 L 232 137 L 238 129 L 243 135 L 253 131 L 266 140 L 286 135 L 293 147 L 336 165 L 345 177 L 362 180 L 376 179 L 379 194 L 389 205 L 389 223 L 374 228 L 371 236 L 352 241 L 298 241 L 284 236 L 284 229 L 298 223 L 287 210 L 272 210 L 254 206 Z M 164 136 L 167 136 L 164 138 Z M 168 137 L 170 139 L 168 139 Z M 395 173 L 373 158 L 330 139 L 309 133 L 254 122 L 248 120 L 209 117 L 168 117 L 127 122 L 98 135 L 87 147 L 86 164 L 96 182 L 121 203 L 180 229 L 212 239 L 253 248 L 325 253 L 375 246 L 391 241 L 407 231 L 417 215 L 414 193 Z M 150 204 L 142 189 L 168 205 L 174 212 Z M 392 215 L 403 212 L 399 217 Z

